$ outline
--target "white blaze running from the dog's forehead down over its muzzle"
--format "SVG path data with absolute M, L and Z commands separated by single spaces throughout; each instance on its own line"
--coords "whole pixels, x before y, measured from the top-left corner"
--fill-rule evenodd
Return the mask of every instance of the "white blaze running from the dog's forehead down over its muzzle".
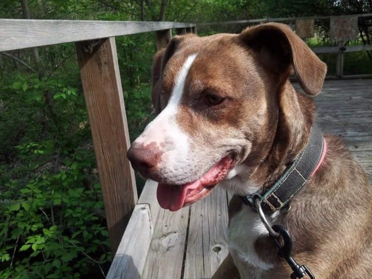
M 158 164 L 166 173 L 177 173 L 185 168 L 184 164 L 189 157 L 189 138 L 176 122 L 179 104 L 184 92 L 187 73 L 197 54 L 187 57 L 174 82 L 171 97 L 167 107 L 147 125 L 145 131 L 135 140 L 134 144 L 155 143 L 162 160 Z

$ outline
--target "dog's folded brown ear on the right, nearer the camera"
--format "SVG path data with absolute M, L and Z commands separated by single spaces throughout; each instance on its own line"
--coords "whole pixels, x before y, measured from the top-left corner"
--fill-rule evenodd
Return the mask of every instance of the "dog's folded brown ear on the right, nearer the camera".
M 289 76 L 293 66 L 306 94 L 314 96 L 321 91 L 326 64 L 287 25 L 262 24 L 246 29 L 239 38 L 258 53 L 260 62 L 269 71 Z

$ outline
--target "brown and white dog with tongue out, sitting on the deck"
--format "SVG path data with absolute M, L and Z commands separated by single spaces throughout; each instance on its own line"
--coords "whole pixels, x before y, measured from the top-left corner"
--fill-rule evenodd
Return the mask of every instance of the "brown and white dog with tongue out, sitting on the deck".
M 289 82 L 293 73 L 304 93 Z M 255 212 L 258 204 L 248 206 L 244 197 L 262 197 L 302 160 L 316 126 L 311 96 L 321 91 L 325 74 L 326 65 L 279 23 L 240 34 L 175 36 L 154 56 L 152 102 L 158 115 L 127 156 L 144 178 L 159 182 L 158 202 L 170 211 L 215 187 L 235 194 L 229 204 L 230 254 L 213 278 L 287 279 L 293 272 L 277 256 L 278 246 Z M 278 206 L 264 198 L 272 210 L 266 218 L 290 233 L 293 258 L 315 278 L 372 278 L 367 176 L 338 137 L 320 138 L 311 175 L 294 185 L 286 201 L 272 192 Z M 291 172 L 303 176 L 297 169 Z

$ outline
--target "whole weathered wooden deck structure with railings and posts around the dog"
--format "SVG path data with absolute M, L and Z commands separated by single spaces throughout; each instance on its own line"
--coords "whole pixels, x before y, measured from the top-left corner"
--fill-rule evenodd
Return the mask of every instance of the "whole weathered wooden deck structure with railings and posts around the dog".
M 288 21 L 288 18 L 223 24 L 267 21 Z M 209 23 L 213 24 L 222 23 Z M 175 213 L 164 211 L 157 203 L 153 181 L 146 183 L 137 198 L 134 173 L 125 156 L 130 142 L 114 37 L 155 32 L 157 48 L 161 49 L 168 44 L 172 30 L 177 34 L 195 33 L 196 25 L 0 19 L 0 51 L 60 43 L 76 45 L 109 238 L 113 252 L 116 251 L 107 275 L 110 279 L 210 278 L 228 253 L 226 227 L 230 197 L 225 191 L 217 187 L 212 195 L 190 207 Z M 336 52 L 342 57 L 343 52 L 368 49 L 372 46 L 313 50 L 317 53 Z M 342 65 L 341 58 L 340 63 Z M 339 77 L 342 77 L 342 68 Z M 323 131 L 339 134 L 345 139 L 356 160 L 367 170 L 370 181 L 371 92 L 372 80 L 328 81 L 315 99 L 319 108 L 318 122 Z

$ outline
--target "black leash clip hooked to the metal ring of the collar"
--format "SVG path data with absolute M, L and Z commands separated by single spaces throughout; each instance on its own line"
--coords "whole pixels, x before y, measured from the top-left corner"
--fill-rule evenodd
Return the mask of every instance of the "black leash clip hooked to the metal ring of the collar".
M 290 275 L 290 279 L 303 278 L 308 275 L 311 279 L 315 279 L 315 276 L 311 273 L 310 269 L 306 265 L 299 265 L 292 257 L 292 238 L 289 232 L 280 225 L 273 225 L 271 227 L 274 231 L 278 232 L 282 238 L 284 245 L 282 246 L 278 241 L 278 238 L 272 237 L 275 245 L 278 247 L 278 256 L 286 260 L 293 273 Z

